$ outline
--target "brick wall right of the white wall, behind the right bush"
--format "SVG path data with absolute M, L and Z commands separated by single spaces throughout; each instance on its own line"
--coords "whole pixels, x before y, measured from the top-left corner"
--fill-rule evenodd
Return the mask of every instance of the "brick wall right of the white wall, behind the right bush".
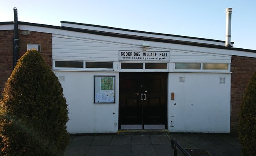
M 252 74 L 256 72 L 256 58 L 232 56 L 231 72 L 230 131 L 237 133 L 243 93 Z

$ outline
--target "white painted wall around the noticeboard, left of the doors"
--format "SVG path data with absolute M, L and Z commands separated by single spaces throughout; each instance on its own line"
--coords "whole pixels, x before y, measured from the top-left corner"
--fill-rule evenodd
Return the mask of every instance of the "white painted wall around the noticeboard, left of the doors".
M 107 133 L 118 130 L 118 85 L 116 72 L 68 72 L 54 71 L 61 81 L 67 100 L 69 133 Z M 94 104 L 94 76 L 115 76 L 115 104 Z M 115 113 L 115 114 L 113 114 Z M 117 122 L 115 126 L 114 123 Z

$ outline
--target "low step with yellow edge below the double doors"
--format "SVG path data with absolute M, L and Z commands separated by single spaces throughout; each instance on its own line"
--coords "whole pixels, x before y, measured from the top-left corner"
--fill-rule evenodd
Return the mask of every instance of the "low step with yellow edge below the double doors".
M 127 130 L 118 130 L 118 135 L 139 135 L 139 134 L 169 134 L 169 130 L 166 129 L 127 129 Z

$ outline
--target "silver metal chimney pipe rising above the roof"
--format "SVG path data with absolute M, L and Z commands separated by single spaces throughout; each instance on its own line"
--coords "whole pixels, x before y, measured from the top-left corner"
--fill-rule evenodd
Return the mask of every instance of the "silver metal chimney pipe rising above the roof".
M 232 8 L 226 9 L 226 47 L 231 47 L 231 13 Z

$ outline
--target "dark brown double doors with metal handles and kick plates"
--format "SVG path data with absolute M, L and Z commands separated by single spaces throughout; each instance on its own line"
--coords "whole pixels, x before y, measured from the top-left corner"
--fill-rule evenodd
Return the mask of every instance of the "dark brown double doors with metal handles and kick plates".
M 119 129 L 167 129 L 167 73 L 119 73 Z

